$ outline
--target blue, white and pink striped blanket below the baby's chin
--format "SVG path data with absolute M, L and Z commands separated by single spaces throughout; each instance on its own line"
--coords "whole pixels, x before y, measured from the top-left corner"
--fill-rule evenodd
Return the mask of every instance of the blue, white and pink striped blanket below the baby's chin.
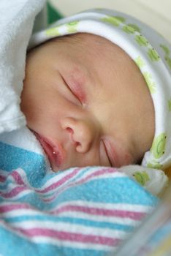
M 0 170 L 1 255 L 106 255 L 156 203 L 114 168 Z

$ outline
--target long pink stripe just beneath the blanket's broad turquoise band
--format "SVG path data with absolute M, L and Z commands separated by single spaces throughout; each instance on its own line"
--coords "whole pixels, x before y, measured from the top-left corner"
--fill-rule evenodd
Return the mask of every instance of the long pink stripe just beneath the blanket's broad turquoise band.
M 77 211 L 83 212 L 86 214 L 91 214 L 95 216 L 105 216 L 105 217 L 121 217 L 121 218 L 130 218 L 134 220 L 140 220 L 142 217 L 145 217 L 145 213 L 135 212 L 135 211 L 121 211 L 121 210 L 108 210 L 104 208 L 94 208 L 86 206 L 63 206 L 57 211 L 53 211 L 53 214 L 61 214 L 65 211 Z

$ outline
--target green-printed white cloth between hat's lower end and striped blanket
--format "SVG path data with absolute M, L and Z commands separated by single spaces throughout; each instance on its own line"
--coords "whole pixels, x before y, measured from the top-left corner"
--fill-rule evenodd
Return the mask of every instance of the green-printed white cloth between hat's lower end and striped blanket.
M 163 170 L 143 167 L 142 165 L 126 165 L 118 168 L 121 172 L 137 181 L 153 195 L 161 195 L 169 184 L 169 178 Z

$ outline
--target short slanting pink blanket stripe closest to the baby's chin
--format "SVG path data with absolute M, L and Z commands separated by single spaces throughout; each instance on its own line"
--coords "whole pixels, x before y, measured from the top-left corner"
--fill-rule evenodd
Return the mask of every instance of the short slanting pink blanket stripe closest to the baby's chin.
M 81 170 L 81 168 L 77 168 L 77 169 L 73 170 L 72 173 L 69 173 L 68 175 L 64 176 L 64 178 L 61 178 L 61 180 L 51 184 L 49 187 L 46 187 L 45 189 L 42 189 L 42 190 L 37 189 L 37 192 L 46 193 L 46 192 L 50 192 L 50 190 L 56 189 L 56 187 L 59 187 L 62 184 L 64 184 L 66 181 L 68 181 L 69 178 L 72 178 L 73 176 L 75 176 L 80 170 Z

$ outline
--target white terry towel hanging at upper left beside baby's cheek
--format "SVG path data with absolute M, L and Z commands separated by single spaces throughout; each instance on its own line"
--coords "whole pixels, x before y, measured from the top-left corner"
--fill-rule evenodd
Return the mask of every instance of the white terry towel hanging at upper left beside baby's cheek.
M 45 0 L 0 2 L 0 133 L 26 125 L 20 111 L 26 48 L 34 18 Z

